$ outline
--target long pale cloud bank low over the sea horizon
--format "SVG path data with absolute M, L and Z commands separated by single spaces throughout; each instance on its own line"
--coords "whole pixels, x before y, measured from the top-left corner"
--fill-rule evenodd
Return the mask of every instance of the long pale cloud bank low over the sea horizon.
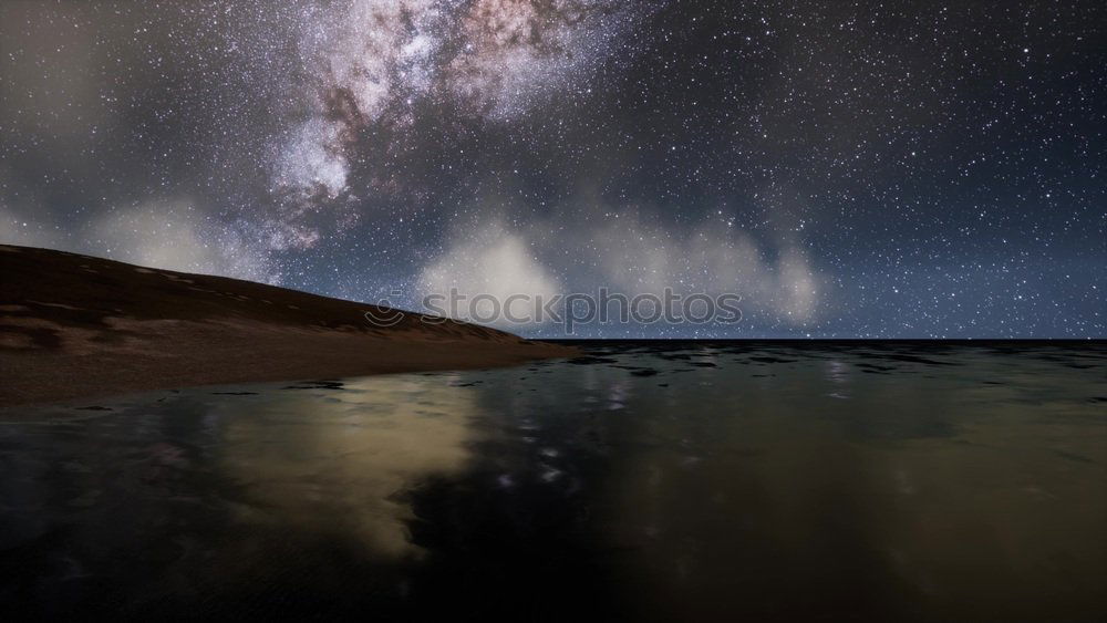
M 492 225 L 477 226 L 482 231 L 467 237 L 458 232 L 458 241 L 421 270 L 422 294 L 453 289 L 467 300 L 487 294 L 503 304 L 513 294 L 549 301 L 572 292 L 596 294 L 599 288 L 631 299 L 663 298 L 666 289 L 681 295 L 734 293 L 742 297 L 747 319 L 794 328 L 817 321 L 824 304 L 824 277 L 801 243 L 758 241 L 725 224 L 705 220 L 674 230 L 632 211 L 599 227 L 539 222 L 513 230 L 495 217 L 484 222 Z M 556 277 L 571 274 L 575 266 L 586 270 L 576 278 Z M 472 310 L 463 305 L 459 311 Z M 490 303 L 476 312 L 451 315 L 483 323 L 493 315 Z M 493 324 L 527 330 L 503 319 Z

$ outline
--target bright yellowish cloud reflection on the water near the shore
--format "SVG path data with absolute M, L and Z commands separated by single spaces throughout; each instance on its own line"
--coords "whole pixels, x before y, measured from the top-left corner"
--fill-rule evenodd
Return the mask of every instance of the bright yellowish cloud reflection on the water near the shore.
M 235 520 L 333 534 L 373 555 L 421 553 L 401 494 L 466 467 L 476 409 L 457 378 L 370 377 L 215 406 L 225 420 L 218 469 L 242 490 Z M 244 408 L 251 416 L 236 417 Z

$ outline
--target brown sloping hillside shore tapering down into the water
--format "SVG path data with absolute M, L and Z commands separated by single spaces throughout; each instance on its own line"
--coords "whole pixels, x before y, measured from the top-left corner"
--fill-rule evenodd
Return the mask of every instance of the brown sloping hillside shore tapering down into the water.
M 365 312 L 401 314 L 374 326 Z M 0 407 L 514 365 L 576 350 L 238 279 L 0 245 Z

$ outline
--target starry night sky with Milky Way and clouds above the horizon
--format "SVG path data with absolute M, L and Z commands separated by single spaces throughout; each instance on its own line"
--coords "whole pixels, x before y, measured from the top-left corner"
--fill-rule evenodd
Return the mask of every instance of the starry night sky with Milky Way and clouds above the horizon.
M 1105 102 L 1101 0 L 6 0 L 0 241 L 743 298 L 586 338 L 1104 338 Z

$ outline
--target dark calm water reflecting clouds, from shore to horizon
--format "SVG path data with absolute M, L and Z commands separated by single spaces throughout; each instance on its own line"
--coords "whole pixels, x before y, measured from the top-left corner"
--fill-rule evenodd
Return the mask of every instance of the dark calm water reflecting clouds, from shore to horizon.
M 1107 616 L 1107 344 L 587 350 L 4 413 L 0 616 Z

